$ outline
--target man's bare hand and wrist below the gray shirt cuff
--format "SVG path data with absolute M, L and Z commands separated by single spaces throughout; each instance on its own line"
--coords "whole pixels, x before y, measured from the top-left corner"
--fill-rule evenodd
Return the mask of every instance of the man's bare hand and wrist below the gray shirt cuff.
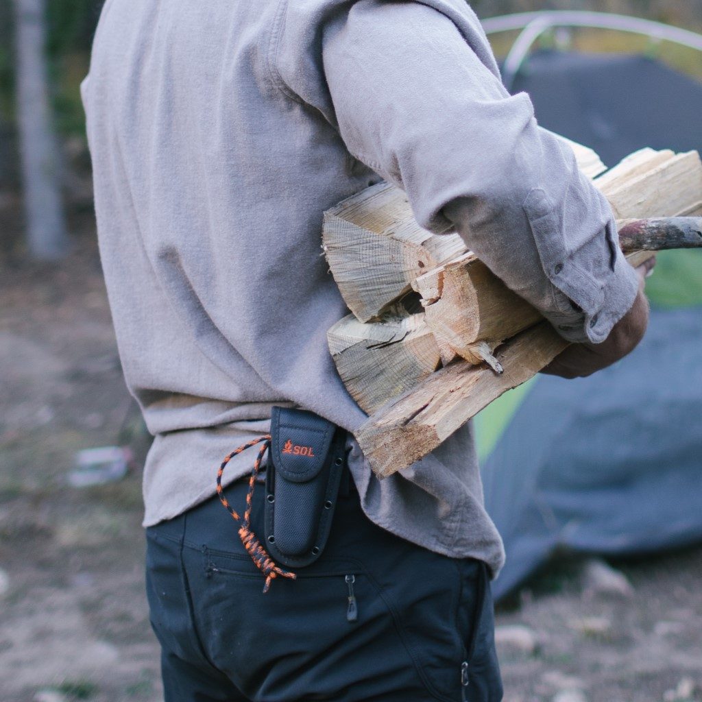
M 600 371 L 632 352 L 649 324 L 649 301 L 644 293 L 646 278 L 653 272 L 656 257 L 637 267 L 639 293 L 631 309 L 612 328 L 601 344 L 573 344 L 541 371 L 562 378 L 584 378 Z

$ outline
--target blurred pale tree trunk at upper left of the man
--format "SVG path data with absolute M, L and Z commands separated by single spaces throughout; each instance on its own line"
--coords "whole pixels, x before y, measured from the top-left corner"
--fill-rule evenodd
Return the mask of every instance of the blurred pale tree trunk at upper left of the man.
M 53 132 L 44 44 L 44 0 L 15 0 L 17 119 L 27 243 L 32 256 L 60 258 L 68 250 Z

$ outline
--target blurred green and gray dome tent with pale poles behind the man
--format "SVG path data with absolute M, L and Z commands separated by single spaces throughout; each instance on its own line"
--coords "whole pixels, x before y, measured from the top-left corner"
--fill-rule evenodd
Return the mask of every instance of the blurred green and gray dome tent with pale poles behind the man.
M 564 15 L 595 14 L 534 13 L 524 26 L 541 18 L 533 41 L 568 25 Z M 527 91 L 540 124 L 608 166 L 646 146 L 702 150 L 698 80 L 645 55 L 521 46 L 505 66 L 512 92 Z M 486 508 L 508 557 L 496 597 L 557 549 L 629 555 L 702 541 L 702 251 L 659 254 L 647 292 L 654 310 L 632 355 L 590 378 L 537 376 L 476 418 Z

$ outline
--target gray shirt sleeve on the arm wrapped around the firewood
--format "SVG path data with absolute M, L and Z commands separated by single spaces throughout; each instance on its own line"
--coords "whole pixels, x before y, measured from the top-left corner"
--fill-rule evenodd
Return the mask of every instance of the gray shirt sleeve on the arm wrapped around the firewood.
M 327 23 L 338 131 L 402 187 L 420 225 L 458 231 L 564 338 L 600 343 L 637 293 L 609 204 L 440 9 L 361 0 Z

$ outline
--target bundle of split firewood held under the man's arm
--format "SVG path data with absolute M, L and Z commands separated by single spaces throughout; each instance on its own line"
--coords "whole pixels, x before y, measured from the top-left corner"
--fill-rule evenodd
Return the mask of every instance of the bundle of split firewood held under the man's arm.
M 702 215 L 697 152 L 644 149 L 607 171 L 569 144 L 609 200 L 632 265 L 651 255 L 640 249 L 702 244 L 701 222 L 689 218 Z M 648 218 L 666 219 L 637 221 Z M 329 349 L 369 414 L 356 438 L 380 477 L 423 458 L 568 345 L 458 234 L 423 230 L 388 183 L 326 212 L 323 248 L 352 312 L 329 329 Z

